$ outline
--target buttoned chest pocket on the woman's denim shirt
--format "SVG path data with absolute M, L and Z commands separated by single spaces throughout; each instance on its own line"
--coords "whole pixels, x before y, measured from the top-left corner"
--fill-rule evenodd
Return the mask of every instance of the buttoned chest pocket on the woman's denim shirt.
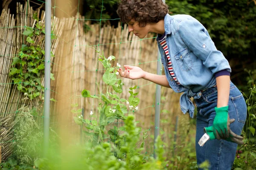
M 182 71 L 189 71 L 192 67 L 192 59 L 189 56 L 188 49 L 184 48 L 175 54 L 175 59 Z

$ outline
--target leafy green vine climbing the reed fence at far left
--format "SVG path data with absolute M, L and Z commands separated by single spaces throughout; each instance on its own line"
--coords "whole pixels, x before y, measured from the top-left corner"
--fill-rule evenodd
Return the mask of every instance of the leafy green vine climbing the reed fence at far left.
M 35 16 L 34 19 L 36 19 Z M 19 91 L 28 94 L 29 99 L 39 97 L 44 100 L 44 86 L 41 85 L 41 75 L 44 74 L 45 51 L 34 41 L 34 37 L 44 35 L 44 25 L 37 19 L 35 29 L 26 27 L 23 35 L 27 36 L 26 44 L 21 46 L 19 55 L 13 58 L 9 76 L 17 84 Z M 55 38 L 52 34 L 52 39 Z M 54 57 L 52 53 L 51 57 Z M 50 78 L 54 80 L 52 73 Z

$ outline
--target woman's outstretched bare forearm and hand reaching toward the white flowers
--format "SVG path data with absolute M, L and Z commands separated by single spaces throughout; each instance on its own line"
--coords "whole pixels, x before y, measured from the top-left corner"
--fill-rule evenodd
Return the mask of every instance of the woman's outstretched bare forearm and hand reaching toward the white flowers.
M 146 79 L 151 82 L 154 82 L 158 85 L 170 88 L 169 82 L 165 75 L 157 75 L 157 74 L 151 74 L 146 71 L 143 71 L 139 67 L 134 67 L 130 65 L 124 65 L 125 70 L 122 72 L 122 69 L 119 69 L 119 75 L 121 77 L 125 77 L 128 79 Z

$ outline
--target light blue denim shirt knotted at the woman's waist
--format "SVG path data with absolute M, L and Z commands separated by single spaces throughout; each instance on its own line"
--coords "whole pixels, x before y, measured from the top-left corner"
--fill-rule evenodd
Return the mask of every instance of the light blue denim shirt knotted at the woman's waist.
M 166 43 L 178 85 L 168 71 L 168 63 L 160 43 L 157 45 L 170 87 L 180 96 L 180 108 L 193 118 L 195 107 L 191 97 L 199 99 L 201 91 L 216 85 L 215 73 L 221 70 L 231 72 L 230 65 L 221 51 L 218 51 L 204 26 L 189 15 L 166 14 L 164 18 Z

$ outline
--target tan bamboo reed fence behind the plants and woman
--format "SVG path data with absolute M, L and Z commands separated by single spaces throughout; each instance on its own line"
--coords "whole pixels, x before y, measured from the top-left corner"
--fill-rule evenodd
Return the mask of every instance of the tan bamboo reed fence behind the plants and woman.
M 35 26 L 35 20 L 32 18 L 35 12 L 41 19 L 40 22 L 44 23 L 44 11 L 40 9 L 33 11 L 31 7 L 27 7 L 27 4 L 22 6 L 17 3 L 17 16 L 3 10 L 0 17 L 0 122 L 5 120 L 6 126 L 13 127 L 13 119 L 22 104 L 36 107 L 39 112 L 37 121 L 39 124 L 43 121 L 43 101 L 40 99 L 22 100 L 24 94 L 17 90 L 17 84 L 13 84 L 9 77 L 12 58 L 18 53 L 21 45 L 27 43 L 24 41 L 26 36 L 22 34 L 24 26 L 32 28 Z M 83 19 L 81 16 L 76 16 L 76 18 Z M 157 69 L 157 44 L 152 38 L 153 34 L 148 34 L 147 39 L 140 40 L 128 32 L 126 25 L 120 24 L 117 28 L 94 24 L 90 25 L 89 31 L 86 31 L 84 30 L 85 20 L 76 20 L 76 18 L 52 17 L 53 32 L 58 38 L 52 40 L 51 48 L 55 54 L 51 60 L 52 73 L 55 76 L 55 80 L 51 81 L 51 98 L 56 99 L 57 102 L 51 102 L 50 125 L 61 129 L 60 133 L 66 136 L 63 139 L 67 141 L 77 139 L 80 134 L 80 128 L 74 123 L 74 115 L 70 112 L 73 109 L 71 104 L 79 103 L 79 108 L 84 109 L 84 117 L 88 117 L 90 111 L 97 112 L 99 102 L 95 99 L 81 97 L 81 91 L 87 89 L 91 94 L 97 95 L 104 93 L 106 89 L 102 81 L 104 71 L 98 63 L 99 55 L 94 48 L 104 51 L 106 57 L 115 56 L 116 60 L 113 65 L 118 62 L 121 65 L 139 66 L 151 73 L 156 73 Z M 33 40 L 35 45 L 44 48 L 43 35 L 34 37 Z M 44 75 L 41 76 L 41 82 L 44 83 Z M 148 133 L 153 135 L 156 85 L 144 79 L 122 79 L 122 81 L 125 84 L 124 89 L 134 85 L 139 86 L 139 111 L 134 114 L 137 121 L 140 121 L 138 126 L 150 129 Z M 121 97 L 128 99 L 128 96 L 128 90 L 125 90 Z M 160 129 L 165 133 L 164 142 L 169 144 L 173 141 L 169 138 L 169 133 L 174 131 L 176 116 L 182 113 L 179 105 L 180 94 L 175 94 L 172 89 L 162 88 L 161 96 L 161 110 L 167 110 L 169 113 L 161 113 L 160 119 L 165 119 L 167 122 L 162 122 Z M 181 123 L 187 122 L 187 119 L 188 116 L 180 116 L 179 126 L 183 127 Z M 3 138 L 2 133 L 0 134 L 1 142 L 5 143 L 6 139 Z M 153 148 L 153 141 L 149 140 L 150 142 L 145 144 L 148 150 Z M 7 158 L 3 157 L 6 154 L 5 147 L 7 146 L 2 145 L 3 160 Z

